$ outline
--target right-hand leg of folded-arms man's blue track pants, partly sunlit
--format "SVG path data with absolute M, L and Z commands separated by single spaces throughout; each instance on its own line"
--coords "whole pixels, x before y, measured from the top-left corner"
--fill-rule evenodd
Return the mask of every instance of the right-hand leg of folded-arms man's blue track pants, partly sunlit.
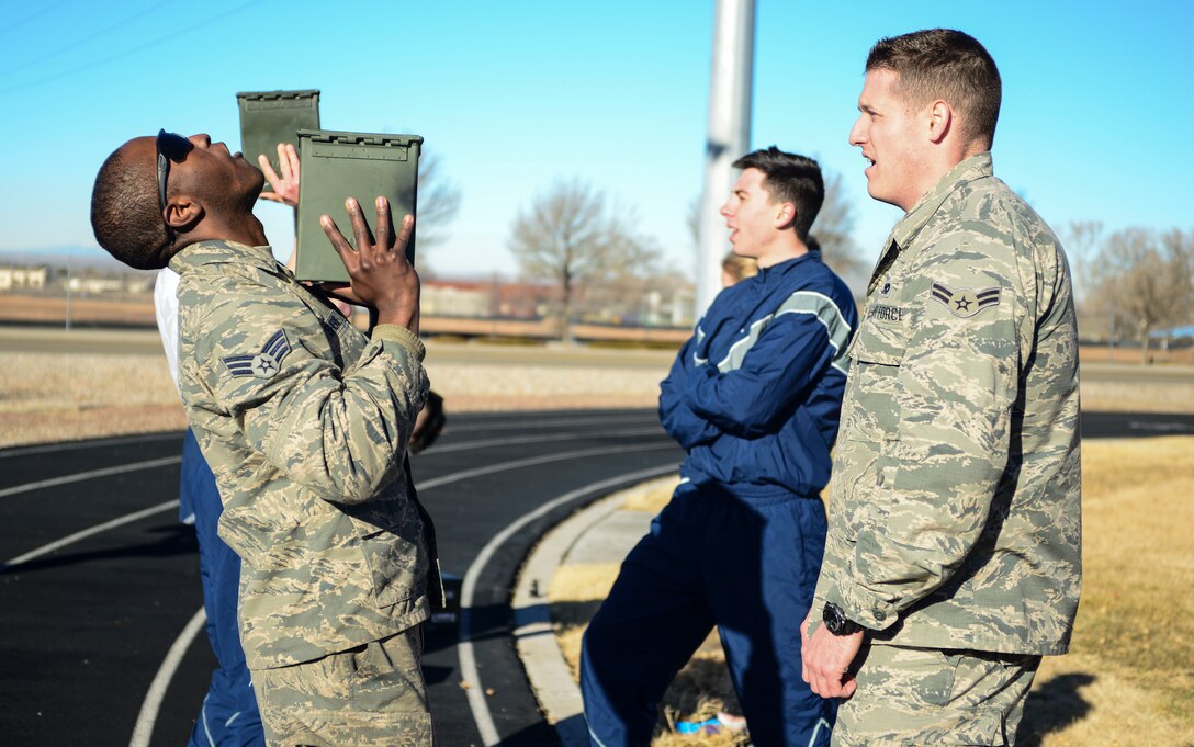
M 756 745 L 829 745 L 837 704 L 801 679 L 800 623 L 825 547 L 825 508 L 790 493 L 719 496 L 708 595 Z

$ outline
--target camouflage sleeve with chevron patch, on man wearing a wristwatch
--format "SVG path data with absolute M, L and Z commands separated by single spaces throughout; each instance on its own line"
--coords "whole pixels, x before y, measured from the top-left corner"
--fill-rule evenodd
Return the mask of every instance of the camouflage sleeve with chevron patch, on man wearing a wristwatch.
M 927 288 L 913 301 L 891 393 L 896 437 L 882 442 L 874 486 L 850 519 L 844 568 L 824 591 L 875 630 L 962 566 L 991 517 L 1011 449 L 1023 319 L 1014 263 L 1004 274 L 998 263 L 975 270 L 955 247 L 942 254 L 955 259 L 919 273 Z M 864 402 L 864 393 L 857 396 Z

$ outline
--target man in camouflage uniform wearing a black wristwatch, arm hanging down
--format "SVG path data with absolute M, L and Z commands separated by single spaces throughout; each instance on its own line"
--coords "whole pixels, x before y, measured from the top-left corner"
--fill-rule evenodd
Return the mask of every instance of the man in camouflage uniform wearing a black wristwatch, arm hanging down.
M 903 208 L 850 350 L 804 678 L 836 745 L 1014 743 L 1081 579 L 1065 255 L 991 171 L 999 75 L 947 30 L 870 51 L 850 142 Z

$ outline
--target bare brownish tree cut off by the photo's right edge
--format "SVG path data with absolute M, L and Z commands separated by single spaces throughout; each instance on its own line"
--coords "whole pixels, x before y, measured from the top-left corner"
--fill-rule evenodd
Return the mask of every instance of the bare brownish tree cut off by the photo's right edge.
M 1149 362 L 1152 333 L 1188 319 L 1194 309 L 1194 231 L 1159 237 L 1146 228 L 1108 236 L 1097 257 L 1097 297 L 1108 313 L 1130 320 L 1140 335 L 1140 362 Z

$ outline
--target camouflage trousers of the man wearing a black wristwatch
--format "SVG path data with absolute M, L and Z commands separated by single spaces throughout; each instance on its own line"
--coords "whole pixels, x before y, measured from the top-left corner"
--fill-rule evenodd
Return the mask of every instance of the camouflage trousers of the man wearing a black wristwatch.
M 1015 745 L 1041 658 L 870 646 L 833 728 L 835 747 Z

